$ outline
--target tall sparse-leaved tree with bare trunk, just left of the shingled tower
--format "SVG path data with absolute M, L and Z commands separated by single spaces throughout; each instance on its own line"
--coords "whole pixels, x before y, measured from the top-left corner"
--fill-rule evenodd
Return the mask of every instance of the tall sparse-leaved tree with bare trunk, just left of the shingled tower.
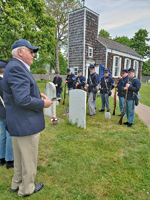
M 53 16 L 55 27 L 55 60 L 56 69 L 59 71 L 59 49 L 67 45 L 68 39 L 68 13 L 77 10 L 82 5 L 79 0 L 43 0 L 46 2 L 47 14 Z

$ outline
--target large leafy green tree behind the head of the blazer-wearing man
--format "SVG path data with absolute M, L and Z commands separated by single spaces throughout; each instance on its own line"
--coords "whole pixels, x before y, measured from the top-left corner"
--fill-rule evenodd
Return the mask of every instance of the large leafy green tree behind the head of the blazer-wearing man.
M 6 60 L 11 58 L 11 45 L 23 38 L 39 47 L 35 63 L 44 63 L 44 56 L 54 50 L 54 35 L 55 20 L 46 14 L 42 0 L 0 1 L 0 55 Z

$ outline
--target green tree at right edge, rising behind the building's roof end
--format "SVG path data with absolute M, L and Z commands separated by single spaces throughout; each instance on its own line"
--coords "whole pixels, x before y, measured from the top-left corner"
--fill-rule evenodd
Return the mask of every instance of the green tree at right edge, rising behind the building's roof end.
M 131 48 L 133 48 L 142 57 L 149 58 L 150 46 L 147 44 L 148 41 L 150 41 L 150 38 L 148 38 L 148 31 L 146 29 L 140 29 L 131 39 Z

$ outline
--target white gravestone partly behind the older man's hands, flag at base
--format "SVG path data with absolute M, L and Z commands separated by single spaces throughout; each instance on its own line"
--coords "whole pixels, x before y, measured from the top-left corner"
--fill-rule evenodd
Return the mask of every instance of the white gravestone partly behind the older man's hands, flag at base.
M 56 87 L 54 83 L 48 82 L 45 86 L 45 95 L 49 100 L 56 97 Z M 44 115 L 46 117 L 52 118 L 56 117 L 56 101 L 49 108 L 44 109 Z

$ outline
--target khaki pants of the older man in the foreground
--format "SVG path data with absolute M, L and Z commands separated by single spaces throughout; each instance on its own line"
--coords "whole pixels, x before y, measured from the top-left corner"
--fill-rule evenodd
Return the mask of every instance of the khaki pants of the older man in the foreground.
M 14 151 L 14 177 L 12 189 L 19 188 L 18 196 L 32 194 L 35 185 L 34 180 L 37 172 L 38 144 L 40 133 L 12 137 Z

